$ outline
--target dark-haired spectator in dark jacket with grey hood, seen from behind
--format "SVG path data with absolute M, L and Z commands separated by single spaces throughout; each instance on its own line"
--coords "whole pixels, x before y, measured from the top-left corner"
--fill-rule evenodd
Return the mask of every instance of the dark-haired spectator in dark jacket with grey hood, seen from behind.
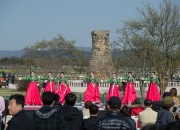
M 54 108 L 54 93 L 47 91 L 42 94 L 43 107 L 34 115 L 36 130 L 67 130 L 62 113 Z

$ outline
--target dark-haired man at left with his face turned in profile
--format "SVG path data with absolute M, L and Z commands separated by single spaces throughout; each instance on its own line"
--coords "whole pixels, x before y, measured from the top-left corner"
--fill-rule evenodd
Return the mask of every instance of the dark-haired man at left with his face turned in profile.
M 7 130 L 35 130 L 32 118 L 25 113 L 23 108 L 23 95 L 15 94 L 9 98 L 8 109 L 13 118 L 8 122 Z

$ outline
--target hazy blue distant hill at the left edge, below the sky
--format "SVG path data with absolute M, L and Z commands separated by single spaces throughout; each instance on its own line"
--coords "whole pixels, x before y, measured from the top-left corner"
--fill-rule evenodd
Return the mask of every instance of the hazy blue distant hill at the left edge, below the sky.
M 12 51 L 0 51 L 0 58 L 3 57 L 22 57 L 24 55 L 23 50 L 12 50 Z

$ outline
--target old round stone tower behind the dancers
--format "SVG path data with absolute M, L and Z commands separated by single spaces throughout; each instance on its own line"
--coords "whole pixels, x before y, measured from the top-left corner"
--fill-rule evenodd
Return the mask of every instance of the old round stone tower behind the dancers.
M 100 80 L 112 77 L 114 65 L 109 50 L 109 31 L 96 30 L 92 35 L 92 57 L 89 61 L 88 72 L 94 72 Z

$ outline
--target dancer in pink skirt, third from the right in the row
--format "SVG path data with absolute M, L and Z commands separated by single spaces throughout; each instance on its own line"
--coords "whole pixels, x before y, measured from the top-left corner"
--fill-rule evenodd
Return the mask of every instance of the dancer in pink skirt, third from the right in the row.
M 106 101 L 109 101 L 112 96 L 120 98 L 119 87 L 121 85 L 121 82 L 119 79 L 117 79 L 116 74 L 113 73 L 113 78 L 105 80 L 104 82 L 110 83 L 109 91 L 106 96 Z

